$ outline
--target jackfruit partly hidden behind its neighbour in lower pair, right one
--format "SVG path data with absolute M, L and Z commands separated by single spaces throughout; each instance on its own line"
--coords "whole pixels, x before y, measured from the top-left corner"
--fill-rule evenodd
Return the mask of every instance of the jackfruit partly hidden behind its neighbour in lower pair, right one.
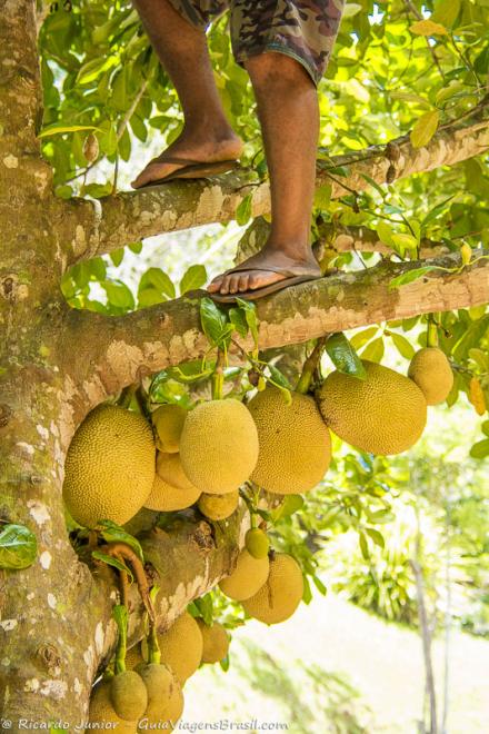
M 266 624 L 285 622 L 296 612 L 303 594 L 302 572 L 285 553 L 276 554 L 270 561 L 267 583 L 242 603 L 244 612 Z

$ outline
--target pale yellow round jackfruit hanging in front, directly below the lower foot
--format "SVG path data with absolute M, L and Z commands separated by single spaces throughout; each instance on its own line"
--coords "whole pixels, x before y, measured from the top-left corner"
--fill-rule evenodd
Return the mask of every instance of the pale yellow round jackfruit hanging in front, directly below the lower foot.
M 258 434 L 248 408 L 233 398 L 209 400 L 190 410 L 180 438 L 180 457 L 201 492 L 236 492 L 258 459 Z

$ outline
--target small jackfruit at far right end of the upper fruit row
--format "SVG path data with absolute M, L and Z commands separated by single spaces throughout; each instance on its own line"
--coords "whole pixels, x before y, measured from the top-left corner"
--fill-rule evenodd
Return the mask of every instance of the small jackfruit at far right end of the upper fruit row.
M 453 387 L 450 363 L 438 347 L 417 351 L 409 365 L 408 377 L 418 385 L 428 405 L 443 403 Z

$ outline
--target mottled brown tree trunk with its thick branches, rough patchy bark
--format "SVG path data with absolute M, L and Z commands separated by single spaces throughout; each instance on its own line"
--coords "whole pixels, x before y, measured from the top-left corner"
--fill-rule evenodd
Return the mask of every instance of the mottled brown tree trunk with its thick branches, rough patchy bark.
M 266 185 L 238 191 L 250 180 L 247 172 L 101 202 L 57 199 L 37 138 L 42 110 L 33 0 L 0 0 L 0 518 L 30 527 L 39 545 L 37 562 L 27 571 L 0 571 L 0 714 L 19 731 L 20 718 L 81 721 L 93 676 L 113 652 L 113 577 L 80 562 L 64 525 L 61 489 L 71 436 L 88 410 L 109 395 L 206 349 L 198 297 L 104 318 L 70 310 L 60 295 L 60 277 L 78 259 L 136 238 L 231 219 L 247 190 L 253 192 L 255 214 L 267 211 L 269 204 Z M 420 151 L 400 140 L 397 175 L 487 150 L 486 112 L 475 110 Z M 383 149 L 363 158 L 351 163 L 353 180 L 343 181 L 348 186 L 365 187 L 362 171 L 385 180 L 389 161 Z M 318 184 L 326 180 L 328 172 L 321 170 Z M 341 185 L 335 184 L 338 195 Z M 453 260 L 446 256 L 439 262 Z M 410 267 L 416 264 L 386 262 L 268 299 L 259 308 L 260 347 L 487 300 L 486 260 L 458 276 L 437 271 L 389 290 L 393 275 Z M 230 572 L 241 534 L 239 518 L 217 529 L 189 513 L 171 533 L 141 536 L 160 575 L 162 624 Z M 132 641 L 141 636 L 142 619 L 134 597 Z

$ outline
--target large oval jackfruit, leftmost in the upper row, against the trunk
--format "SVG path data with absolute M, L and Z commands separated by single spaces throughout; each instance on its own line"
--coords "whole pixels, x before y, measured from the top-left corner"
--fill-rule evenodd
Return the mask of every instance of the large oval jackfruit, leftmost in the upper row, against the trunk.
M 64 464 L 63 497 L 77 523 L 128 523 L 148 498 L 154 479 L 154 442 L 144 418 L 102 405 L 74 434 Z

